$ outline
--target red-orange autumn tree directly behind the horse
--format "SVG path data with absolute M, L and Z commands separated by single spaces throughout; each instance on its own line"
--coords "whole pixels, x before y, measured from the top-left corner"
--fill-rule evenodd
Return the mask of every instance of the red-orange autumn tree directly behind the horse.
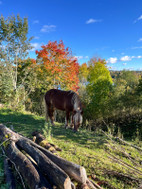
M 79 64 L 69 48 L 65 48 L 62 40 L 59 43 L 49 41 L 47 45 L 41 47 L 36 54 L 39 72 L 44 76 L 44 82 L 48 82 L 50 88 L 77 91 Z

